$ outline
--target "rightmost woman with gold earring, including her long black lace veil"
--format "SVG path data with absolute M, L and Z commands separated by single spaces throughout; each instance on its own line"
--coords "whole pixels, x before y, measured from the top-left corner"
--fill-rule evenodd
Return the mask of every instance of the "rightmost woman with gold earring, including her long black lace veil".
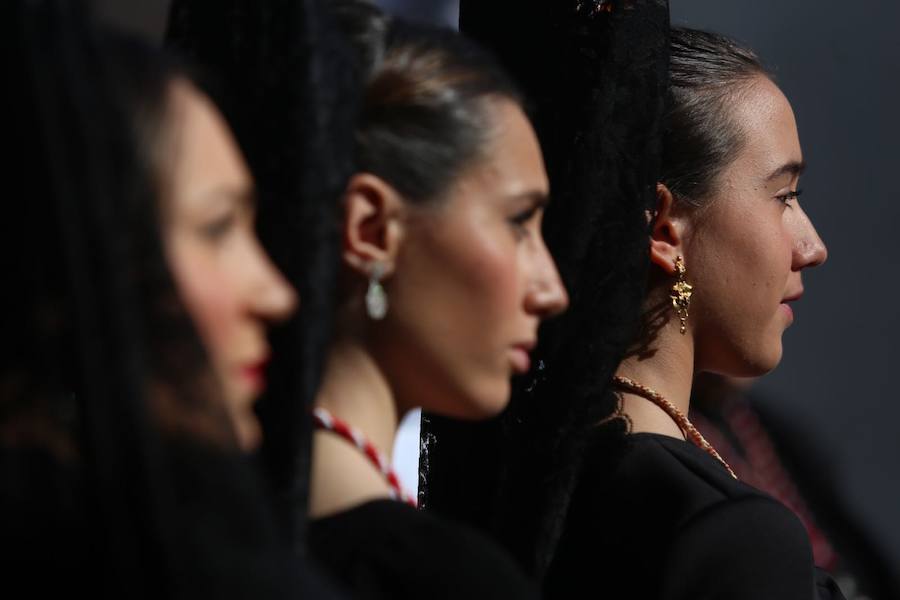
M 659 33 L 667 19 L 656 3 L 577 2 L 568 19 L 557 14 L 554 21 L 546 11 L 527 19 L 531 29 L 520 38 L 499 29 L 501 7 L 468 7 L 463 3 L 464 28 L 468 19 L 469 29 L 513 64 L 529 65 L 519 72 L 537 82 L 535 97 L 551 123 L 544 134 L 549 144 L 564 140 L 552 126 L 561 106 L 588 107 L 568 121 L 571 147 L 545 148 L 550 165 L 560 160 L 557 166 L 567 169 L 553 182 L 581 188 L 569 210 L 592 210 L 596 217 L 582 221 L 584 232 L 577 221 L 553 230 L 554 217 L 565 223 L 569 215 L 548 214 L 548 243 L 563 273 L 572 277 L 566 266 L 573 257 L 581 276 L 568 280 L 570 314 L 545 338 L 555 344 L 541 349 L 545 368 L 526 382 L 505 419 L 475 442 L 463 426 L 426 422 L 424 442 L 433 440 L 424 465 L 428 506 L 463 511 L 493 530 L 544 575 L 549 597 L 582 597 L 589 589 L 639 598 L 840 597 L 814 571 L 796 519 L 734 481 L 678 409 L 695 370 L 760 373 L 777 363 L 790 316 L 785 303 L 799 293 L 799 272 L 825 258 L 796 204 L 802 155 L 790 105 L 752 53 L 730 40 L 675 30 L 669 43 Z M 530 16 L 540 14 L 529 7 Z M 656 21 L 648 18 L 654 9 Z M 629 21 L 632 35 L 617 37 Z M 585 36 L 592 29 L 593 39 Z M 559 46 L 576 51 L 541 62 L 528 55 L 526 40 L 542 35 L 562 35 Z M 663 72 L 670 68 L 657 76 L 656 87 L 652 70 L 629 64 L 641 55 L 636 48 L 648 47 Z M 569 76 L 571 64 L 594 69 L 554 86 L 546 85 L 552 69 L 543 80 L 535 77 L 541 70 L 534 65 L 548 64 Z M 647 77 L 645 87 L 616 86 L 639 74 Z M 635 98 L 645 104 L 630 112 L 608 110 Z M 618 143 L 594 146 L 599 152 L 586 156 L 581 148 L 591 136 Z M 647 136 L 661 148 L 647 145 Z M 612 161 L 609 171 L 606 161 Z M 635 175 L 642 176 L 643 206 L 637 194 L 619 195 L 622 182 Z M 584 181 L 594 182 L 594 195 L 583 193 Z M 631 215 L 630 228 L 604 221 L 600 211 L 617 206 Z M 630 244 L 609 252 L 616 239 L 610 233 Z M 607 252 L 583 253 L 578 262 L 571 254 L 578 242 L 571 238 L 579 235 L 596 240 L 582 241 L 586 247 L 593 243 Z M 645 283 L 645 293 L 635 290 Z M 628 335 L 617 335 L 623 332 Z M 457 462 L 460 447 L 469 460 L 486 449 L 499 460 L 473 475 L 469 464 L 462 469 Z M 492 491 L 492 504 L 458 491 L 473 481 Z

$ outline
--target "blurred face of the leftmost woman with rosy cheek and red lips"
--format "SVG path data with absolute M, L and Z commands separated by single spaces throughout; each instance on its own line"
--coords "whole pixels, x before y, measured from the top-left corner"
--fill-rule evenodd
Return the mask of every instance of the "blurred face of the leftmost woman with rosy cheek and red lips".
M 266 329 L 297 303 L 254 232 L 253 182 L 224 120 L 189 83 L 171 86 L 164 242 L 176 287 L 221 383 L 239 445 L 260 440 Z

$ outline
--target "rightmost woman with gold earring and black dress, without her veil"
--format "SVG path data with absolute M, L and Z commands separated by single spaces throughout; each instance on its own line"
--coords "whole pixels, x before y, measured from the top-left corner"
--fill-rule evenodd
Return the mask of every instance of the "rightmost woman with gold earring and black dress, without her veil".
M 588 447 L 545 590 L 580 595 L 600 565 L 613 598 L 840 598 L 796 516 L 738 481 L 686 417 L 696 373 L 778 364 L 788 303 L 826 250 L 798 201 L 804 161 L 784 94 L 734 41 L 671 36 L 644 328 L 613 379 L 619 407 Z

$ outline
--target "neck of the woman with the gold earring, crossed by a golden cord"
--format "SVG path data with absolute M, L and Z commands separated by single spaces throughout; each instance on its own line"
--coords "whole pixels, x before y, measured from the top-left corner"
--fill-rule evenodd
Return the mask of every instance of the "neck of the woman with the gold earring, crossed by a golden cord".
M 660 330 L 652 352 L 628 356 L 616 373 L 652 388 L 687 415 L 694 377 L 694 342 L 691 330 L 688 329 L 686 335 L 681 335 L 677 319 L 672 319 Z M 622 391 L 622 398 L 622 411 L 631 420 L 633 432 L 684 438 L 672 418 L 650 400 L 626 391 Z

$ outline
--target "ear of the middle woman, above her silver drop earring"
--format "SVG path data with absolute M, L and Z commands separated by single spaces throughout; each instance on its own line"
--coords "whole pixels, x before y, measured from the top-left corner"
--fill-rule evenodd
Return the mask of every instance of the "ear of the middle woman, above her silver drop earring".
M 351 177 L 344 192 L 344 262 L 366 276 L 378 263 L 385 276 L 390 275 L 403 237 L 404 208 L 397 190 L 380 177 L 370 173 Z

